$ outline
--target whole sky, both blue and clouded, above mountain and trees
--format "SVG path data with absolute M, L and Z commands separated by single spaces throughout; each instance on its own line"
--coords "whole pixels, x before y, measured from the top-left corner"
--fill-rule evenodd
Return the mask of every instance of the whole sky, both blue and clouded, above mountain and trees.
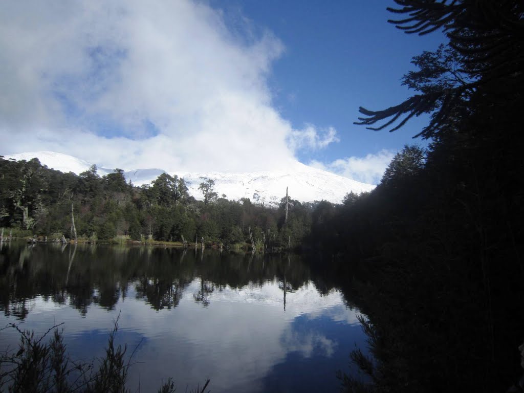
M 0 155 L 108 168 L 275 170 L 377 184 L 427 123 L 354 125 L 410 92 L 443 36 L 388 24 L 386 0 L 27 0 L 0 9 Z

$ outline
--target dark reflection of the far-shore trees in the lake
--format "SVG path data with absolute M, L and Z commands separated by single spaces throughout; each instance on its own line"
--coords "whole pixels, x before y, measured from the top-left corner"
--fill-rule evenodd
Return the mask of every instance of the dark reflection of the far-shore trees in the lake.
M 187 287 L 195 281 L 198 289 Z M 108 311 L 124 301 L 129 286 L 154 310 L 176 308 L 183 296 L 203 307 L 210 295 L 229 287 L 241 289 L 277 281 L 286 294 L 312 281 L 311 271 L 297 256 L 267 256 L 215 250 L 22 243 L 6 244 L 0 253 L 0 310 L 24 320 L 30 301 L 42 297 L 69 304 L 86 315 L 95 304 Z M 315 283 L 316 287 L 316 283 Z M 324 281 L 318 288 L 327 293 Z

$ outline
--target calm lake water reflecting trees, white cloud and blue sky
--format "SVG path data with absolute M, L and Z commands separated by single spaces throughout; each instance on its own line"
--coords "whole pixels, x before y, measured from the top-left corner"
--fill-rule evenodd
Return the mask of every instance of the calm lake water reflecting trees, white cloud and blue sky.
M 297 256 L 4 243 L 0 297 L 0 327 L 64 322 L 74 359 L 102 356 L 120 314 L 117 341 L 138 345 L 132 391 L 168 377 L 181 391 L 206 378 L 213 393 L 337 391 L 365 341 L 357 311 Z M 0 350 L 17 343 L 0 332 Z

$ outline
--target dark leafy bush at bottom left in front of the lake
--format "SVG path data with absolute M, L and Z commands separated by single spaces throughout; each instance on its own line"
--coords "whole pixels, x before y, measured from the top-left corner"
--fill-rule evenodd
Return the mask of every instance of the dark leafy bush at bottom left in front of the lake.
M 16 329 L 20 333 L 20 344 L 16 354 L 7 351 L 0 355 L 0 391 L 9 392 L 84 392 L 84 393 L 127 393 L 126 381 L 135 350 L 126 356 L 127 345 L 115 347 L 118 323 L 110 333 L 105 356 L 89 363 L 73 361 L 63 343 L 63 331 L 53 326 L 41 337 L 34 332 L 22 331 L 15 324 L 4 329 Z M 4 330 L 2 329 L 2 330 Z M 53 332 L 51 339 L 45 340 Z M 209 385 L 206 380 L 202 388 L 192 390 L 203 393 Z M 7 389 L 7 390 L 6 390 Z M 176 387 L 171 378 L 164 383 L 159 393 L 172 393 Z

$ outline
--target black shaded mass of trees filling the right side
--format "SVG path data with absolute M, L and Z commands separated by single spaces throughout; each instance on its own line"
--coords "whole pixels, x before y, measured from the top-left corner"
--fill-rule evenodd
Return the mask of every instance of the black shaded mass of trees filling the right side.
M 402 83 L 416 94 L 360 111 L 391 131 L 431 114 L 429 147 L 407 146 L 371 194 L 325 209 L 320 246 L 344 255 L 374 355 L 351 356 L 373 386 L 341 378 L 347 391 L 522 391 L 524 3 L 395 2 L 390 23 L 449 42 L 413 58 Z

